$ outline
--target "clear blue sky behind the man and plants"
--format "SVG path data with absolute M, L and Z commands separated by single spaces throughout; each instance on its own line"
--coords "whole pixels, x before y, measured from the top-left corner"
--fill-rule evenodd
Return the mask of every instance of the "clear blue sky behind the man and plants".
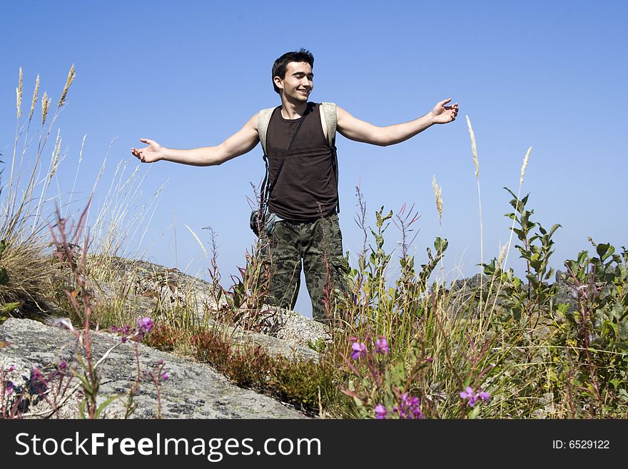
M 305 47 L 315 56 L 311 99 L 333 101 L 365 121 L 409 121 L 447 97 L 460 106 L 455 123 L 396 146 L 338 137 L 345 251 L 355 255 L 362 246 L 353 221 L 359 183 L 371 225 L 380 206 L 398 211 L 403 203 L 415 204 L 421 216 L 412 246 L 417 264 L 442 236 L 450 241 L 445 270 L 477 272 L 480 216 L 465 115 L 477 138 L 485 261 L 508 239 L 510 221 L 503 215 L 510 197 L 502 187 L 516 192 L 529 146 L 523 193 L 531 193 L 537 221 L 562 225 L 554 266 L 588 248 L 587 236 L 618 247 L 627 243 L 623 1 L 15 1 L 2 2 L 0 14 L 5 168 L 13 151 L 19 67 L 28 114 L 36 75 L 40 96 L 47 91 L 55 104 L 76 66 L 57 121 L 67 156 L 53 191 L 58 193 L 57 183 L 62 196 L 71 190 L 87 134 L 74 213 L 107 153 L 96 207 L 118 162 L 131 158 L 127 172 L 136 166 L 130 148 L 141 146 L 138 138 L 174 148 L 216 145 L 259 109 L 277 105 L 270 67 L 285 51 Z M 49 143 L 46 158 L 51 151 Z M 129 243 L 128 252 L 203 274 L 203 253 L 184 225 L 206 248 L 210 238 L 202 228 L 212 226 L 228 286 L 253 242 L 246 197 L 250 183 L 263 177 L 260 147 L 218 167 L 160 162 L 140 171 L 149 168 L 136 198 L 140 206 L 167 185 L 150 223 L 141 222 L 141 245 Z M 434 175 L 442 186 L 442 227 Z M 395 226 L 387 233 L 388 248 L 395 248 L 400 233 Z M 509 265 L 521 273 L 514 251 Z M 311 314 L 305 290 L 297 309 Z

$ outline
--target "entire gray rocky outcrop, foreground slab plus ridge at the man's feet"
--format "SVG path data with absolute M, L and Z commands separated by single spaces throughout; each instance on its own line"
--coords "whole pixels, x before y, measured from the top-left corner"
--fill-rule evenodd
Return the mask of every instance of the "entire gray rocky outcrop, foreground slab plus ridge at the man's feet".
M 258 332 L 227 326 L 218 321 L 226 301 L 224 296 L 215 294 L 211 283 L 147 261 L 125 258 L 98 261 L 102 260 L 90 259 L 87 276 L 87 288 L 96 312 L 108 303 L 121 301 L 121 298 L 128 311 L 138 317 L 153 316 L 153 311 L 160 309 L 158 306 L 162 310 L 176 306 L 202 317 L 209 327 L 228 336 L 233 345 L 259 345 L 270 354 L 293 360 L 318 360 L 318 352 L 308 344 L 330 340 L 322 324 L 280 308 L 240 311 L 240 316 L 255 314 L 256 320 L 263 319 L 260 321 L 263 327 L 258 328 Z M 108 272 L 103 272 L 102 266 L 106 266 Z M 54 311 L 54 316 L 60 313 Z M 49 323 L 54 316 L 48 316 Z M 97 367 L 100 376 L 98 403 L 119 396 L 106 405 L 103 417 L 125 416 L 128 391 L 139 375 L 132 402 L 137 407 L 132 418 L 304 418 L 297 410 L 273 398 L 238 388 L 210 365 L 164 353 L 142 343 L 122 343 L 121 337 L 112 333 L 92 331 L 90 338 L 93 360 L 101 360 Z M 140 362 L 139 373 L 135 347 Z M 78 378 L 69 379 L 69 369 L 84 373 L 77 356 L 85 356 L 84 348 L 66 329 L 16 318 L 0 324 L 0 371 L 4 373 L 0 378 L 4 380 L 5 410 L 8 403 L 15 402 L 17 395 L 24 395 L 19 413 L 26 418 L 76 418 L 84 393 Z M 160 360 L 163 360 L 163 370 L 156 373 Z M 64 364 L 64 370 L 58 369 L 61 364 Z M 39 373 L 46 379 L 54 373 L 54 380 L 42 385 L 44 378 L 40 378 Z M 63 373 L 66 373 L 65 379 L 61 379 Z M 163 379 L 163 373 L 168 379 Z M 61 388 L 58 387 L 60 381 Z M 14 386 L 10 396 L 6 387 L 9 382 Z M 1 393 L 2 388 L 0 398 Z

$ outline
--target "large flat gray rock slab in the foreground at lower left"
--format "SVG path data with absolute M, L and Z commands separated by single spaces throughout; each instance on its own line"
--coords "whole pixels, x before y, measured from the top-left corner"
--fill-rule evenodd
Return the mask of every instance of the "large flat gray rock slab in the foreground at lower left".
M 168 373 L 168 379 L 160 380 L 158 388 L 150 375 L 140 373 L 138 392 L 133 400 L 137 409 L 132 418 L 156 418 L 160 401 L 162 418 L 304 418 L 277 400 L 238 388 L 209 365 L 156 351 L 141 343 L 121 343 L 119 336 L 111 333 L 92 331 L 90 339 L 93 360 L 106 356 L 97 368 L 101 379 L 99 404 L 112 396 L 127 393 L 136 382 L 135 346 L 142 371 L 154 369 L 159 360 L 163 360 L 163 371 Z M 31 372 L 39 368 L 41 373 L 49 375 L 64 360 L 69 367 L 82 372 L 76 356 L 84 356 L 84 349 L 78 345 L 75 336 L 65 329 L 36 321 L 9 318 L 0 325 L 0 345 L 2 342 L 9 343 L 0 348 L 0 370 L 5 372 L 4 380 L 11 380 L 16 391 L 31 390 L 31 400 L 21 409 L 24 415 L 48 416 L 55 402 L 67 398 L 54 417 L 76 418 L 83 393 L 80 386 L 74 393 L 71 391 L 78 379 L 74 378 L 70 388 L 61 393 L 54 385 L 55 380 L 44 390 Z M 10 365 L 14 365 L 15 370 L 6 373 Z M 106 407 L 103 417 L 123 418 L 124 414 L 123 396 Z

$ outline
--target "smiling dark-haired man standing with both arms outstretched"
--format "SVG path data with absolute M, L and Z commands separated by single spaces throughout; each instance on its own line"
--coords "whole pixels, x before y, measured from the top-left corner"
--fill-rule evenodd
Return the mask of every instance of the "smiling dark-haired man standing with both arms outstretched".
M 281 106 L 270 117 L 266 133 L 270 194 L 266 258 L 270 265 L 269 303 L 294 308 L 301 263 L 313 306 L 313 318 L 326 322 L 335 311 L 338 293 L 347 293 L 342 237 L 338 225 L 338 181 L 335 147 L 328 142 L 328 126 L 320 104 L 311 103 L 314 58 L 309 51 L 288 52 L 273 64 L 273 87 Z M 454 121 L 458 106 L 440 101 L 414 121 L 378 127 L 335 107 L 337 130 L 351 140 L 387 146 L 400 143 L 435 123 Z M 176 150 L 141 138 L 145 148 L 132 148 L 146 163 L 166 160 L 213 166 L 251 151 L 260 141 L 259 114 L 218 146 Z M 289 151 L 288 151 L 289 150 Z M 288 151 L 286 153 L 286 151 Z

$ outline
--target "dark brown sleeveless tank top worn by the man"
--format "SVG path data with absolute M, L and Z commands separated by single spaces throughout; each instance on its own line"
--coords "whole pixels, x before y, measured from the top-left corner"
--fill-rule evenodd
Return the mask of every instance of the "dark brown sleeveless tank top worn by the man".
M 269 181 L 276 181 L 268 208 L 287 220 L 310 220 L 335 212 L 338 188 L 332 149 L 320 123 L 320 104 L 308 103 L 290 153 L 278 176 L 285 150 L 300 119 L 285 119 L 273 112 L 266 133 Z

